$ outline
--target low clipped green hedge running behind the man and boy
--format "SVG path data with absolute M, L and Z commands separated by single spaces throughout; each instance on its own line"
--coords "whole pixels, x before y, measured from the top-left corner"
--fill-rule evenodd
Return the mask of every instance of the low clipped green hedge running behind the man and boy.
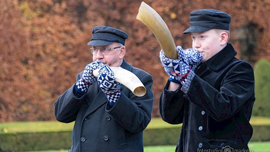
M 251 141 L 270 141 L 270 118 L 251 117 L 253 136 Z M 71 132 L 74 123 L 10 122 L 0 123 L 0 152 L 27 152 L 68 150 L 71 147 Z M 176 145 L 181 124 L 171 125 L 161 118 L 152 118 L 144 130 L 144 146 Z

